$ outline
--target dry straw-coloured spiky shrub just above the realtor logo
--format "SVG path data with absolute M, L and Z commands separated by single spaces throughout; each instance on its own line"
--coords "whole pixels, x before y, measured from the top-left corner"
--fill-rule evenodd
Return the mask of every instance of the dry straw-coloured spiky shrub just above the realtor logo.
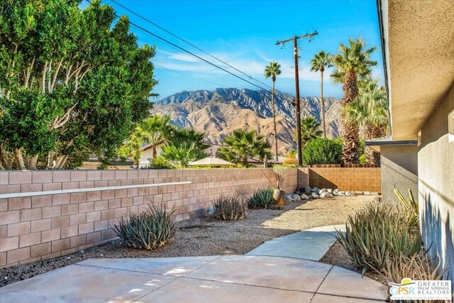
M 427 254 L 416 253 L 411 257 L 401 255 L 399 258 L 389 256 L 384 277 L 387 282 L 400 283 L 402 279 L 411 280 L 443 280 L 447 268 L 441 268 L 439 258 L 431 259 Z M 389 287 L 389 285 L 388 285 Z M 439 302 L 433 300 L 406 300 L 405 302 Z

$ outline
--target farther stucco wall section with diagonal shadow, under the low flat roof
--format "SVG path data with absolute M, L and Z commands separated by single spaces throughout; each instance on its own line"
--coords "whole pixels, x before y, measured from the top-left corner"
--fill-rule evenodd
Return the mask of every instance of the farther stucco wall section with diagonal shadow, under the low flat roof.
M 407 189 L 418 195 L 418 147 L 416 145 L 382 146 L 382 199 L 394 201 L 394 186 L 406 197 Z

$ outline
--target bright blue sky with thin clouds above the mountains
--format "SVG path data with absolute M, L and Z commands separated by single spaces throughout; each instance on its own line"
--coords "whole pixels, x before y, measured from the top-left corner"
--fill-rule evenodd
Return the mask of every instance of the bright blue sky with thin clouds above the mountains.
M 271 60 L 277 61 L 282 66 L 282 75 L 277 78 L 276 88 L 283 92 L 294 94 L 293 51 L 289 43 L 282 49 L 275 43 L 277 40 L 312 31 L 318 31 L 319 35 L 310 42 L 301 40 L 299 43 L 301 96 L 319 96 L 320 93 L 320 75 L 310 72 L 311 57 L 319 50 L 336 53 L 338 45 L 347 43 L 348 38 L 362 36 L 368 46 L 379 47 L 372 56 L 378 62 L 373 69 L 373 75 L 383 79 L 375 0 L 117 1 L 266 84 L 271 85 L 271 79 L 265 79 L 263 70 Z M 216 62 L 112 1 L 103 0 L 103 3 L 114 6 L 118 15 L 128 15 L 133 23 L 223 66 L 221 62 Z M 133 27 L 131 31 L 138 35 L 140 44 L 156 45 L 157 54 L 153 62 L 156 65 L 155 78 L 159 80 L 159 84 L 154 92 L 160 94 L 160 97 L 184 90 L 212 90 L 216 87 L 257 89 L 205 62 L 179 52 L 143 31 Z M 225 68 L 231 70 L 229 67 Z M 238 74 L 234 70 L 232 72 Z M 329 74 L 329 70 L 326 74 Z M 328 75 L 325 79 L 325 96 L 341 97 L 341 85 L 333 84 Z

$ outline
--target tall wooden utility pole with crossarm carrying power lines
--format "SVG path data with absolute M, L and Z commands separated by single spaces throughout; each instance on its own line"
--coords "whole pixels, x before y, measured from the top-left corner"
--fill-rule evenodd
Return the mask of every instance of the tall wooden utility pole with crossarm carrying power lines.
M 298 70 L 298 39 L 309 38 L 309 41 L 312 40 L 314 35 L 318 35 L 316 31 L 313 33 L 306 33 L 306 35 L 295 35 L 293 38 L 287 40 L 277 41 L 276 45 L 282 46 L 293 41 L 293 56 L 295 60 L 295 106 L 297 107 L 297 152 L 298 152 L 298 165 L 303 165 L 303 154 L 301 147 L 301 106 L 299 104 L 299 70 Z

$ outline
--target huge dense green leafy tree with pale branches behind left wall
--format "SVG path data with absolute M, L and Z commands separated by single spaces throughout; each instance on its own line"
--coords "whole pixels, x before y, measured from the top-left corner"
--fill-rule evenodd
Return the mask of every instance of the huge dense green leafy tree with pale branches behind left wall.
M 8 169 L 109 158 L 148 115 L 155 48 L 99 0 L 0 4 L 0 152 Z M 39 161 L 43 163 L 38 163 Z

